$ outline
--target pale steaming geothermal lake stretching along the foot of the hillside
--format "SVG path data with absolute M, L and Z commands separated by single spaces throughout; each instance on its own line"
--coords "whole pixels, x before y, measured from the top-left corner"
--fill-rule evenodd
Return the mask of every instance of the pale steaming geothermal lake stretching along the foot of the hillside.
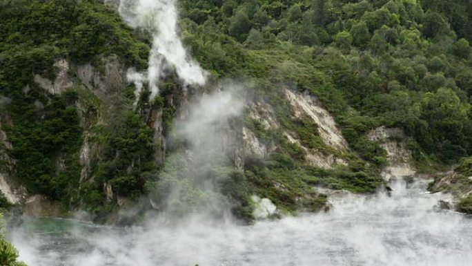
M 346 196 L 330 213 L 257 222 L 117 228 L 25 220 L 10 231 L 30 266 L 471 265 L 472 218 L 435 208 L 426 182 Z

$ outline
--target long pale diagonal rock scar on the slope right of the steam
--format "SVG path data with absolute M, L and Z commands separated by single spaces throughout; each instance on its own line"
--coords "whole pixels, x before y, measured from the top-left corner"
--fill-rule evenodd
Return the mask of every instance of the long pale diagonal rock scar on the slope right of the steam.
M 285 90 L 285 95 L 291 103 L 295 117 L 308 115 L 318 126 L 319 135 L 323 142 L 339 151 L 346 151 L 348 144 L 340 129 L 337 128 L 333 116 L 326 111 L 315 97 L 308 94 L 298 94 Z

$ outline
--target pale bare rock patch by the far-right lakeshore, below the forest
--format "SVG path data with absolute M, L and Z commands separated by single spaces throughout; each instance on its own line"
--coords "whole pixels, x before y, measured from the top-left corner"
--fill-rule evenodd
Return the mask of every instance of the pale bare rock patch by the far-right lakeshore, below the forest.
M 411 151 L 406 148 L 404 142 L 406 136 L 402 129 L 387 129 L 385 126 L 380 126 L 368 133 L 368 138 L 379 142 L 387 153 L 390 165 L 382 172 L 386 181 L 395 177 L 407 177 L 415 174 L 415 170 L 410 164 Z

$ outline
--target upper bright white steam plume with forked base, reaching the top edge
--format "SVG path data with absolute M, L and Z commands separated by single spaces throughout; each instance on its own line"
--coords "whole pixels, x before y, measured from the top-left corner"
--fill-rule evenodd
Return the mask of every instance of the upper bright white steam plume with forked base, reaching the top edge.
M 110 2 L 113 0 L 107 0 Z M 144 81 L 148 82 L 151 99 L 159 93 L 159 82 L 166 70 L 173 70 L 184 85 L 206 83 L 206 72 L 191 59 L 179 39 L 175 0 L 120 0 L 119 13 L 132 28 L 146 30 L 153 35 L 148 71 L 128 71 L 128 80 L 134 82 L 137 93 Z

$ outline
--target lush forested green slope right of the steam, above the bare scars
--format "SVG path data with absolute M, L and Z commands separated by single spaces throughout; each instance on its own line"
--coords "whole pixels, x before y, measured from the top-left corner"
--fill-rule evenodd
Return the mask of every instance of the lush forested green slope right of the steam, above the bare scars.
M 180 1 L 193 55 L 216 75 L 311 91 L 374 160 L 362 133 L 385 124 L 417 160 L 471 153 L 468 1 Z M 278 75 L 274 75 L 274 74 Z M 271 80 L 272 81 L 272 80 Z

